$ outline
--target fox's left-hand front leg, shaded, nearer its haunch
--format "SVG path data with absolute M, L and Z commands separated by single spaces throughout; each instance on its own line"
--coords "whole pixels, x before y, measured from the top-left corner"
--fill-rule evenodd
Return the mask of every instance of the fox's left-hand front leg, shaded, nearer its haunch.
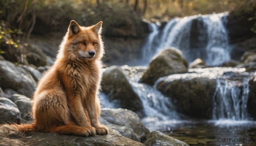
M 95 135 L 96 134 L 96 130 L 94 127 L 92 127 L 89 123 L 88 123 L 88 119 L 85 115 L 84 112 L 84 108 L 81 104 L 81 98 L 80 97 L 69 97 L 68 98 L 68 105 L 70 108 L 70 112 L 73 115 L 73 117 L 76 120 L 76 123 L 79 126 L 82 126 L 84 128 L 87 129 L 87 132 L 90 133 L 90 135 Z

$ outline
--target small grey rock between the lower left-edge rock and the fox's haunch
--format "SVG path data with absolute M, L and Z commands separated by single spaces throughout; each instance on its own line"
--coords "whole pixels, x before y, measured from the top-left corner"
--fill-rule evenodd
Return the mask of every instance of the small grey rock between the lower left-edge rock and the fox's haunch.
M 21 117 L 31 112 L 32 101 L 29 97 L 26 97 L 21 94 L 14 94 L 9 99 L 12 100 L 12 102 L 14 102 L 18 106 Z

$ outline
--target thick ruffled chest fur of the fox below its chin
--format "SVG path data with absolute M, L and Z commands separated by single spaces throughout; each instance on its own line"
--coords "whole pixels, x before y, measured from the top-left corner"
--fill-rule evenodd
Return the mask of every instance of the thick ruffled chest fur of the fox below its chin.
M 74 97 L 81 97 L 82 102 L 87 99 L 89 94 L 95 92 L 100 82 L 100 66 L 97 63 L 81 63 L 70 61 L 66 63 L 62 70 L 62 81 L 64 90 Z M 84 102 L 83 102 L 84 103 Z

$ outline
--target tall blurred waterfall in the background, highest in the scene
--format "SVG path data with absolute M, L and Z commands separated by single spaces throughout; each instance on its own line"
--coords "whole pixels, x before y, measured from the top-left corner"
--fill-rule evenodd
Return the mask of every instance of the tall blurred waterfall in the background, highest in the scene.
M 143 46 L 143 62 L 148 64 L 151 57 L 168 46 L 180 49 L 186 60 L 197 58 L 209 66 L 218 66 L 230 60 L 230 47 L 225 28 L 227 13 L 195 15 L 170 20 L 163 30 L 155 29 L 149 34 Z

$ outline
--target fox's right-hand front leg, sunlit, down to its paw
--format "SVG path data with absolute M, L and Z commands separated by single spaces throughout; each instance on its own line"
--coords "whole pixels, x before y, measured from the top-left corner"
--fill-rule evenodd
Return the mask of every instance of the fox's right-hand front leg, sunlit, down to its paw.
M 106 135 L 108 134 L 108 128 L 102 126 L 99 123 L 99 115 L 100 115 L 100 105 L 99 105 L 99 97 L 96 94 L 92 94 L 89 98 L 89 102 L 87 101 L 87 111 L 90 117 L 90 121 L 93 127 L 96 128 L 97 135 Z

